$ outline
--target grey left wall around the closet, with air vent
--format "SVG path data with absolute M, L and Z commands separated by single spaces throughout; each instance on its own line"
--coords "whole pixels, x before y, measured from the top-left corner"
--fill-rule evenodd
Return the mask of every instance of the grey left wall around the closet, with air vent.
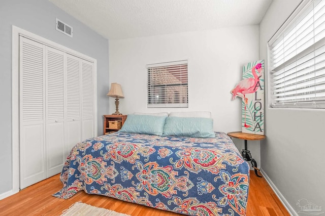
M 55 30 L 55 18 L 73 27 L 73 38 Z M 12 190 L 12 25 L 76 50 L 97 60 L 98 132 L 107 113 L 109 88 L 108 40 L 52 3 L 44 0 L 1 0 L 0 4 L 0 199 Z

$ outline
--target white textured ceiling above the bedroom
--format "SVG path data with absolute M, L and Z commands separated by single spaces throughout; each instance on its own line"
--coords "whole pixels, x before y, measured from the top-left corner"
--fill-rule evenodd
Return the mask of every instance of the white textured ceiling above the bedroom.
M 272 0 L 49 1 L 108 39 L 259 24 L 272 2 Z

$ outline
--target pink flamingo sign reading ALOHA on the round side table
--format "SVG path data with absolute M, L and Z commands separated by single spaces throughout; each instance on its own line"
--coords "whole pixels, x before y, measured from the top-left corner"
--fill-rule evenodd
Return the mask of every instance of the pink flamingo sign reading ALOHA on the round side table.
M 242 98 L 242 132 L 264 135 L 264 60 L 243 66 L 243 79 L 231 91 Z

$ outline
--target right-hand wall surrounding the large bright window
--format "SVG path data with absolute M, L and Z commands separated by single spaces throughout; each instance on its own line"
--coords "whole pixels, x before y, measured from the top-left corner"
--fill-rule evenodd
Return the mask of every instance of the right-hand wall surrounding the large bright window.
M 273 1 L 259 26 L 261 58 L 267 59 L 267 41 L 300 2 Z M 268 103 L 270 92 L 265 95 Z M 263 172 L 291 214 L 298 215 L 301 208 L 297 202 L 303 198 L 324 208 L 325 110 L 266 108 L 265 116 L 267 139 L 261 142 Z

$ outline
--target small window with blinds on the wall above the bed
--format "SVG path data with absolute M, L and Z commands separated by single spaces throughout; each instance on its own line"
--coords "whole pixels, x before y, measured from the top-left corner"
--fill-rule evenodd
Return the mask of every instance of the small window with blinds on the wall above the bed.
M 188 107 L 187 60 L 147 65 L 147 107 Z

